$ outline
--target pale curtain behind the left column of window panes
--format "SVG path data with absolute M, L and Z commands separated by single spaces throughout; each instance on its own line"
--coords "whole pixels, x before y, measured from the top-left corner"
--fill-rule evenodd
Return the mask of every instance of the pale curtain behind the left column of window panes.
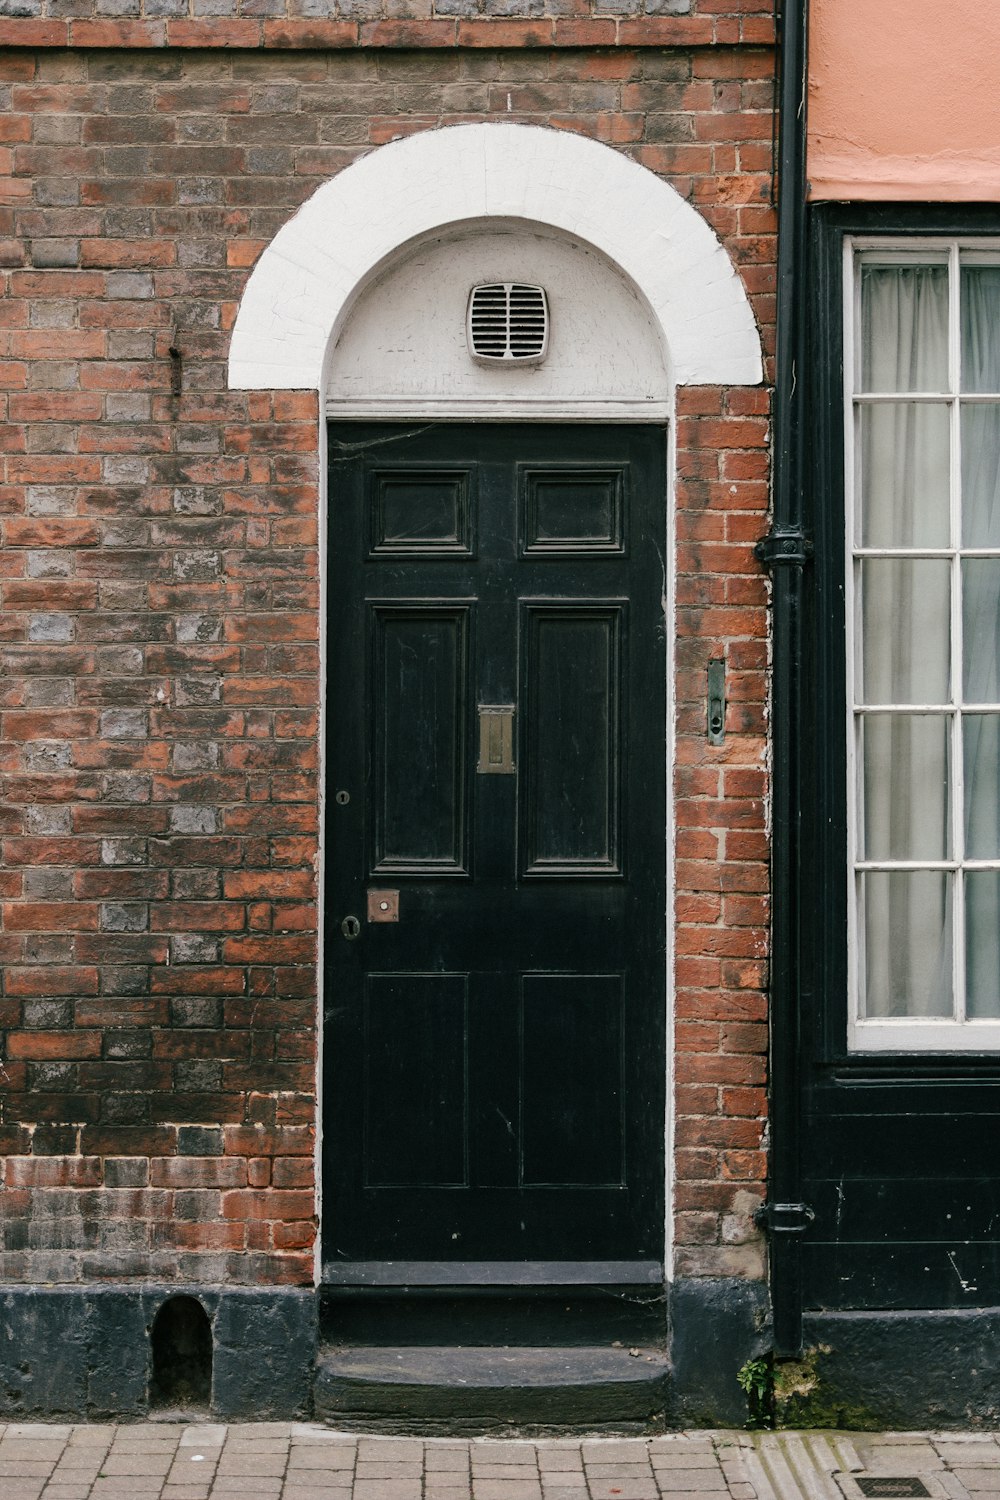
M 948 390 L 948 267 L 862 268 L 862 390 Z M 859 543 L 949 544 L 945 402 L 865 405 L 859 416 Z M 859 702 L 948 704 L 951 568 L 942 558 L 868 558 L 858 574 Z M 943 860 L 949 834 L 946 714 L 859 718 L 864 860 Z M 952 1014 L 952 878 L 940 870 L 861 878 L 865 1016 Z

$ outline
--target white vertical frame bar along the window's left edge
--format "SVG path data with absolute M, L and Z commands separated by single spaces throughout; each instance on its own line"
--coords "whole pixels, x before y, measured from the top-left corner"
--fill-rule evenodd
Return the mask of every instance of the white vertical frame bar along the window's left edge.
M 856 711 L 856 570 L 855 549 L 859 540 L 858 532 L 858 458 L 856 458 L 856 423 L 858 408 L 855 393 L 861 386 L 861 370 L 858 360 L 856 330 L 861 327 L 861 276 L 856 274 L 855 246 L 844 237 L 844 530 L 847 558 L 844 579 L 844 624 L 847 636 L 847 992 L 849 1018 L 847 1044 L 855 1046 L 856 1026 L 862 1020 L 862 942 L 864 921 L 861 914 L 861 880 L 858 878 L 858 824 L 861 819 L 862 800 L 858 792 L 858 734 L 862 716 Z

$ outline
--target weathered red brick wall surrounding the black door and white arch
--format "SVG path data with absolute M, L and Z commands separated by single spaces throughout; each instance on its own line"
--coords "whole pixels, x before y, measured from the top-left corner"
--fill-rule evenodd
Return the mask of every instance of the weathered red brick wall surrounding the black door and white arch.
M 312 1278 L 316 405 L 225 388 L 261 248 L 406 130 L 552 123 L 688 195 L 768 332 L 771 72 L 682 36 L 0 58 L 0 1278 Z M 678 440 L 679 1269 L 757 1275 L 766 398 L 684 392 Z

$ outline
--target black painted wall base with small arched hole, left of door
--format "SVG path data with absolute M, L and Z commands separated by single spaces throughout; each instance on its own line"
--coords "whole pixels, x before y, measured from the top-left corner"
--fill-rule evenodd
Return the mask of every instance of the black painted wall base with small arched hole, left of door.
M 213 1332 L 210 1414 L 307 1416 L 316 1298 L 298 1288 L 0 1287 L 0 1418 L 150 1414 L 153 1320 L 192 1296 Z

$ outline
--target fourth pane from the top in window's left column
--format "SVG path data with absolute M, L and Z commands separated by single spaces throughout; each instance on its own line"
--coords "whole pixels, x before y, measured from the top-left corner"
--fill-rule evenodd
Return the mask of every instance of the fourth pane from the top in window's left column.
M 948 723 L 943 714 L 861 720 L 862 860 L 948 860 Z

